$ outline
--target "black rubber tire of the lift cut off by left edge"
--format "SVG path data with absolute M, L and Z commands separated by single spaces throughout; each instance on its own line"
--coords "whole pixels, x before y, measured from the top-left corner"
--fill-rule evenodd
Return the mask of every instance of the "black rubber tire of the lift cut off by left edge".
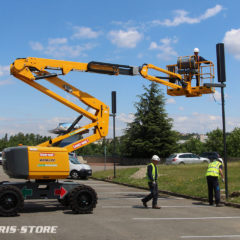
M 24 206 L 21 191 L 15 186 L 0 186 L 0 215 L 16 216 Z

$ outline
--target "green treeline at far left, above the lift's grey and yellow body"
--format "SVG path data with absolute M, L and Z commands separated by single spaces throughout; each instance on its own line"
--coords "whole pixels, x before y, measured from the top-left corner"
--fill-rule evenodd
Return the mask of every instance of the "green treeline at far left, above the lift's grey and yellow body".
M 7 147 L 19 146 L 19 144 L 35 146 L 49 139 L 50 137 L 40 136 L 39 134 L 34 133 L 23 134 L 20 132 L 16 135 L 10 136 L 9 138 L 8 135 L 5 134 L 5 136 L 0 139 L 0 150 L 2 151 Z

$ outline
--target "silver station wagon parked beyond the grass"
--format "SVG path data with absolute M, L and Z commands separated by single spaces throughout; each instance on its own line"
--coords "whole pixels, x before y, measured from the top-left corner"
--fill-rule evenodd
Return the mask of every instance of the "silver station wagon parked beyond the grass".
M 193 153 L 174 153 L 166 159 L 166 164 L 209 163 L 208 158 L 199 157 Z

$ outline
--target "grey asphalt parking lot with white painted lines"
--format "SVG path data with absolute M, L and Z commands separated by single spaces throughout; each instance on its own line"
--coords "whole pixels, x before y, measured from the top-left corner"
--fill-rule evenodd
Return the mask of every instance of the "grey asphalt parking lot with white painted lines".
M 7 180 L 0 169 L 0 180 Z M 0 239 L 240 239 L 240 209 L 159 196 L 162 209 L 145 209 L 147 191 L 88 180 L 98 204 L 93 214 L 75 215 L 54 200 L 28 200 L 20 216 L 0 217 L 1 226 L 56 226 L 56 233 L 0 233 Z

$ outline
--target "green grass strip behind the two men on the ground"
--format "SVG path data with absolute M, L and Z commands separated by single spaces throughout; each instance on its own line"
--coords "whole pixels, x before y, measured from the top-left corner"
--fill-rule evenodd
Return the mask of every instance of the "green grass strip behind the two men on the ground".
M 228 163 L 228 192 L 240 191 L 240 162 Z M 133 179 L 131 175 L 139 168 L 117 169 L 116 178 L 113 179 L 113 170 L 96 172 L 93 177 L 99 179 L 112 179 L 113 182 L 127 183 L 134 186 L 147 187 L 146 179 Z M 158 186 L 160 190 L 186 194 L 195 197 L 207 198 L 207 183 L 205 173 L 207 164 L 198 165 L 160 165 Z M 225 184 L 220 181 L 220 188 L 225 189 Z M 222 192 L 222 195 L 225 195 Z M 229 202 L 240 203 L 240 197 L 229 197 Z

